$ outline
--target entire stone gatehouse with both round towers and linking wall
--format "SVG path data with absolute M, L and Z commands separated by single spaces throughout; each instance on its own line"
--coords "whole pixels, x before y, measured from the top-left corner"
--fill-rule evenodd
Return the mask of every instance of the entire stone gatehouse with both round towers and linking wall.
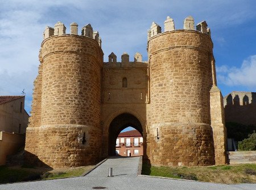
M 175 30 L 168 16 L 162 32 L 152 23 L 147 61 L 137 52 L 134 61 L 123 53 L 118 62 L 112 52 L 107 63 L 100 35 L 90 24 L 81 35 L 76 23 L 71 34 L 61 22 L 46 27 L 27 160 L 54 168 L 93 164 L 113 152 L 111 138 L 134 125 L 143 135 L 144 159 L 152 165 L 226 163 L 210 30 L 205 21 L 195 30 L 192 16 L 183 24 L 183 30 Z

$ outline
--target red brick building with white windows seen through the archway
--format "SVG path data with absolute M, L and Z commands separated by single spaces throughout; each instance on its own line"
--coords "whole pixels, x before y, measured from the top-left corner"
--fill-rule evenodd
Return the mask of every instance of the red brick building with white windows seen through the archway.
M 120 133 L 117 137 L 115 152 L 119 156 L 142 156 L 143 137 L 137 130 Z

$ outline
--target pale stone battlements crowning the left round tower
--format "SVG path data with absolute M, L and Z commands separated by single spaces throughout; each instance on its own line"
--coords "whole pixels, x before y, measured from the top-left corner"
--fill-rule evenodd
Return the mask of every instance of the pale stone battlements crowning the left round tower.
M 51 37 L 51 36 L 60 36 L 66 34 L 66 27 L 63 23 L 57 22 L 54 25 L 54 28 L 47 26 L 43 33 L 44 40 Z M 73 22 L 70 24 L 70 35 L 79 35 L 78 34 L 78 24 Z M 93 31 L 93 28 L 90 24 L 85 25 L 82 27 L 81 36 L 87 36 L 96 40 L 101 47 L 101 38 L 98 31 Z

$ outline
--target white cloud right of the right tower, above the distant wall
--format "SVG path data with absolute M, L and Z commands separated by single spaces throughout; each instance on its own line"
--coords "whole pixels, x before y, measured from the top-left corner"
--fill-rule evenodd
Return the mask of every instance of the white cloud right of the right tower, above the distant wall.
M 216 67 L 218 81 L 228 86 L 246 86 L 249 89 L 256 88 L 256 55 L 244 60 L 241 67 L 228 67 L 222 65 Z

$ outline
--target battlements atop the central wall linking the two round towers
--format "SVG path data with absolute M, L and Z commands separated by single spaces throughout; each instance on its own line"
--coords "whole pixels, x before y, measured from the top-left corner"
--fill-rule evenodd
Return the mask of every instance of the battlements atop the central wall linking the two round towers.
M 105 68 L 133 68 L 133 67 L 147 67 L 147 61 L 142 61 L 141 53 L 137 52 L 134 55 L 134 61 L 129 60 L 128 53 L 124 52 L 121 56 L 121 62 L 117 62 L 115 53 L 110 53 L 109 61 L 104 63 Z

